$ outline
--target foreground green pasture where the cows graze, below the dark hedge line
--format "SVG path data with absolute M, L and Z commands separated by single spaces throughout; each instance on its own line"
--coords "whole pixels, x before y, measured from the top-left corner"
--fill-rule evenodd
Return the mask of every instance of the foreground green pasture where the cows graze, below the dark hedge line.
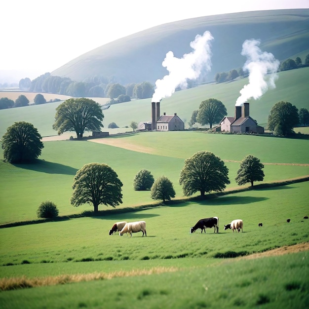
M 307 308 L 308 252 L 258 260 L 214 257 L 308 242 L 309 221 L 303 219 L 308 189 L 304 182 L 132 213 L 0 229 L 1 278 L 174 268 L 5 291 L 0 293 L 1 308 Z M 208 216 L 219 217 L 219 234 L 213 229 L 190 234 L 190 227 Z M 224 231 L 224 224 L 235 218 L 243 219 L 243 232 Z M 119 220 L 145 220 L 147 237 L 141 232 L 132 238 L 108 235 Z

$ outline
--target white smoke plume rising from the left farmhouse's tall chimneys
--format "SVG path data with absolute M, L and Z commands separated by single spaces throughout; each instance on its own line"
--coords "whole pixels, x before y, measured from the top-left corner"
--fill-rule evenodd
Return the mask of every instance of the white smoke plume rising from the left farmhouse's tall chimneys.
M 212 39 L 211 33 L 205 31 L 202 36 L 197 35 L 190 43 L 193 52 L 184 54 L 182 58 L 174 57 L 172 51 L 166 54 L 162 66 L 166 67 L 169 74 L 156 80 L 152 102 L 159 102 L 162 98 L 170 97 L 177 86 L 186 88 L 187 79 L 196 79 L 202 70 L 210 71 L 210 41 Z

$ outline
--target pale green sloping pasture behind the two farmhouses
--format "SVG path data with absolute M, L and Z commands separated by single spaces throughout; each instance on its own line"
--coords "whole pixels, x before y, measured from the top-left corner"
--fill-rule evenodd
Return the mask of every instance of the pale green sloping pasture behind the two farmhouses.
M 278 73 L 276 88 L 269 89 L 259 100 L 250 99 L 250 116 L 262 126 L 267 126 L 268 116 L 272 106 L 279 101 L 288 101 L 298 109 L 309 109 L 309 87 L 307 85 L 309 68 L 290 70 Z M 228 116 L 234 116 L 235 102 L 239 91 L 248 83 L 247 78 L 238 79 L 228 83 L 204 84 L 191 89 L 176 91 L 171 97 L 161 101 L 161 114 L 174 115 L 177 113 L 189 127 L 188 122 L 192 112 L 197 110 L 201 101 L 208 98 L 215 98 L 223 102 L 227 108 Z M 102 103 L 102 98 L 93 98 Z M 7 127 L 15 121 L 28 121 L 38 128 L 41 136 L 57 135 L 52 129 L 55 120 L 56 107 L 61 102 L 48 103 L 44 105 L 33 105 L 14 109 L 0 110 L 0 137 L 6 132 Z M 133 100 L 131 102 L 112 105 L 108 110 L 103 110 L 104 128 L 111 134 L 119 130 L 132 131 L 129 126 L 131 121 L 151 120 L 151 98 Z M 108 125 L 115 122 L 120 129 L 108 129 Z M 85 136 L 91 135 L 87 132 Z M 72 136 L 76 136 L 72 132 Z

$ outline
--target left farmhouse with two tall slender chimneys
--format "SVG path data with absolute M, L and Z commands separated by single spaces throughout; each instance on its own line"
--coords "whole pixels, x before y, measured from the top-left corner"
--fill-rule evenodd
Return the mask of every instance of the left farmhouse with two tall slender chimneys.
M 160 116 L 160 102 L 152 102 L 152 121 L 140 122 L 138 130 L 183 131 L 185 123 L 175 113 L 173 116 Z

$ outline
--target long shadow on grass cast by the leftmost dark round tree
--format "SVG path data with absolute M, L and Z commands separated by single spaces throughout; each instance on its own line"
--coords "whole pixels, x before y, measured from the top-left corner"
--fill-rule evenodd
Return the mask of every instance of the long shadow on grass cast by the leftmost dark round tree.
M 36 172 L 47 173 L 47 174 L 65 174 L 65 175 L 76 175 L 77 169 L 68 165 L 59 163 L 49 162 L 45 160 L 36 160 L 34 163 L 28 164 L 13 164 L 16 167 L 24 168 Z

